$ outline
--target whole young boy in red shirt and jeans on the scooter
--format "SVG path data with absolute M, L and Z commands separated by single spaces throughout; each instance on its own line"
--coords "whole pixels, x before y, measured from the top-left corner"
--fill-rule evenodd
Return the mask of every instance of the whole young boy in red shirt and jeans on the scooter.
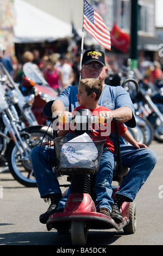
M 92 115 L 98 115 L 99 112 L 102 113 L 102 111 L 108 111 L 107 117 L 110 118 L 110 120 L 112 120 L 112 114 L 110 109 L 103 106 L 99 106 L 97 103 L 102 93 L 102 90 L 102 83 L 96 78 L 80 80 L 77 94 L 77 99 L 80 106 L 74 109 L 72 115 L 75 114 L 79 108 L 88 108 L 92 112 Z M 102 125 L 106 126 L 106 124 Z M 102 136 L 101 133 L 104 132 L 104 127 L 102 127 L 101 129 L 101 124 L 99 124 L 98 129 L 96 126 L 96 130 L 93 129 L 93 125 L 90 128 L 92 129 L 91 136 Z M 111 131 L 114 132 L 112 123 Z M 124 127 L 122 124 L 118 124 L 118 131 L 119 134 L 135 148 L 147 148 L 146 145 L 137 143 L 135 139 L 131 137 L 130 133 L 127 131 L 127 128 Z M 65 136 L 67 132 L 68 130 L 60 130 L 59 136 Z M 114 143 L 109 138 L 109 133 L 108 135 L 104 135 L 103 137 L 106 138 L 106 142 L 104 144 L 101 163 L 96 174 L 96 208 L 98 212 L 110 216 L 111 206 L 113 204 L 113 200 L 111 199 L 111 182 L 112 172 L 114 168 Z M 110 157 L 109 161 L 106 161 L 106 155 L 108 160 L 108 151 L 110 153 Z M 62 198 L 59 202 L 58 209 L 63 208 L 64 203 L 65 198 Z M 119 216 L 118 219 L 116 218 L 115 221 L 122 222 L 122 216 Z

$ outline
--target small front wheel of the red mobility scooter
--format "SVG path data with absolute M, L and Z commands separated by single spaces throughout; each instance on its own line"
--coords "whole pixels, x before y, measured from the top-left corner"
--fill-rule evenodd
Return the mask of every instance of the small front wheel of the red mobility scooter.
M 85 245 L 87 240 L 86 221 L 71 221 L 71 241 L 73 245 Z

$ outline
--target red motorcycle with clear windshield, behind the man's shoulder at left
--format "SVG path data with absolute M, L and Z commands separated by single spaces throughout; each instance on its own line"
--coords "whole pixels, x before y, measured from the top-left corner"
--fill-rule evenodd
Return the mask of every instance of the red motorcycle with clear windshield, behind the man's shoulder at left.
M 39 124 L 48 124 L 48 118 L 43 114 L 43 107 L 48 101 L 55 100 L 58 93 L 49 87 L 49 84 L 43 78 L 39 68 L 30 62 L 23 65 L 23 72 L 26 77 L 22 79 L 20 85 L 24 96 L 34 94 L 32 111 Z

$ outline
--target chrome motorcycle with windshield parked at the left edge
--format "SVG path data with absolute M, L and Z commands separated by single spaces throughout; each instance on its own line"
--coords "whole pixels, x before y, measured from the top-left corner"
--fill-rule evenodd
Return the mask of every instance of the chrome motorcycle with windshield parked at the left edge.
M 36 187 L 29 153 L 41 140 L 47 141 L 53 135 L 45 133 L 46 126 L 37 125 L 28 103 L 4 72 L 0 65 L 0 161 L 8 163 L 12 176 L 22 185 Z

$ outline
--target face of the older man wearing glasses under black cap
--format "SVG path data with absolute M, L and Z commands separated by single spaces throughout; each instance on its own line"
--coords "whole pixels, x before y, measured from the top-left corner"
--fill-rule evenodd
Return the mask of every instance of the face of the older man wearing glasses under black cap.
M 99 62 L 90 62 L 89 64 L 82 65 L 81 74 L 83 79 L 97 78 L 103 83 L 107 73 L 108 68 Z

